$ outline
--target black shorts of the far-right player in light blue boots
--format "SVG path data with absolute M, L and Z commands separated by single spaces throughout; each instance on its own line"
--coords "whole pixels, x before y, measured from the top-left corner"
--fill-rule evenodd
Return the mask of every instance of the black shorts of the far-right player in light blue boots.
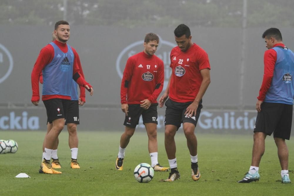
M 273 134 L 274 138 L 289 140 L 291 135 L 293 105 L 284 103 L 261 104 L 258 112 L 254 132 Z

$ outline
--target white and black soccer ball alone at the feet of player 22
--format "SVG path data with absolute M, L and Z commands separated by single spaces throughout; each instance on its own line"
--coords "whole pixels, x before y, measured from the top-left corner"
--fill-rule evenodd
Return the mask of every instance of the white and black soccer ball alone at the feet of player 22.
M 148 163 L 140 163 L 134 170 L 135 179 L 138 182 L 150 182 L 154 176 L 154 170 Z

